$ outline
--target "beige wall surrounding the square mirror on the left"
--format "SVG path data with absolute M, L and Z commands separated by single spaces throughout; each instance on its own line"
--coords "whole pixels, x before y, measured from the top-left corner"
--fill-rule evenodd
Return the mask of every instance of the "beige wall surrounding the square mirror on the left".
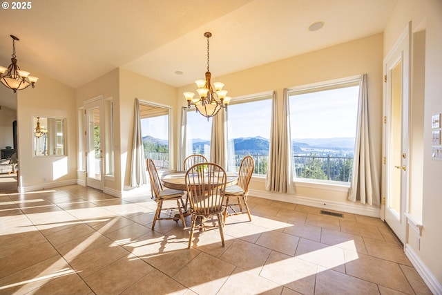
M 17 135 L 20 189 L 28 191 L 77 182 L 77 133 L 75 133 L 75 90 L 55 79 L 39 77 L 35 88 L 17 91 Z M 66 156 L 35 157 L 32 151 L 32 117 L 66 118 Z

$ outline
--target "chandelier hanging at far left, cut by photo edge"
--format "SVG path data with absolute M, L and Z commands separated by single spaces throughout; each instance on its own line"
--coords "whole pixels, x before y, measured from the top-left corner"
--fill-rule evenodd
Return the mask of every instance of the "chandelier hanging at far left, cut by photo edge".
M 19 41 L 19 38 L 14 35 L 10 36 L 12 38 L 12 64 L 10 64 L 8 68 L 0 66 L 0 81 L 4 86 L 12 89 L 14 93 L 16 93 L 17 90 L 27 88 L 30 85 L 34 88 L 34 84 L 39 78 L 30 76 L 29 72 L 26 72 L 26 70 L 20 70 L 19 66 L 17 66 L 17 59 L 15 58 L 15 41 Z

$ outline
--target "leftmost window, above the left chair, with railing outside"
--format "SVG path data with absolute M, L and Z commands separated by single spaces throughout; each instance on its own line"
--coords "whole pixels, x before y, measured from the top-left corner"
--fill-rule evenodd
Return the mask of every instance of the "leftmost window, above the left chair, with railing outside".
M 144 158 L 157 169 L 169 168 L 169 108 L 140 104 Z

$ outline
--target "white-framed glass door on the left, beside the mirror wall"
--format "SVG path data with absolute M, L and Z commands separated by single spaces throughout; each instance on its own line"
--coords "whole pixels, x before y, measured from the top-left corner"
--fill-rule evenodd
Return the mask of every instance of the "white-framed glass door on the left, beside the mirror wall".
M 87 102 L 86 115 L 86 185 L 103 190 L 103 120 L 102 99 Z

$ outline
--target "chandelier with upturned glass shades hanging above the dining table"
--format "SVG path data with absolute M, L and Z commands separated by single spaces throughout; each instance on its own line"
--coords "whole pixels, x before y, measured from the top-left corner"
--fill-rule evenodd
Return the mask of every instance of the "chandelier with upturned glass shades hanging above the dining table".
M 211 73 L 209 71 L 209 38 L 212 37 L 211 32 L 205 32 L 204 37 L 207 38 L 207 71 L 206 71 L 206 79 L 196 80 L 195 83 L 198 86 L 196 90 L 200 97 L 193 98 L 195 93 L 193 92 L 185 92 L 184 97 L 187 100 L 187 107 L 191 108 L 191 106 L 195 106 L 197 111 L 207 117 L 213 117 L 216 115 L 221 108 L 225 108 L 227 111 L 227 105 L 230 103 L 231 97 L 226 96 L 227 91 L 223 90 L 224 84 L 220 82 L 214 82 L 213 86 L 215 91 L 213 91 L 213 87 L 211 85 Z

